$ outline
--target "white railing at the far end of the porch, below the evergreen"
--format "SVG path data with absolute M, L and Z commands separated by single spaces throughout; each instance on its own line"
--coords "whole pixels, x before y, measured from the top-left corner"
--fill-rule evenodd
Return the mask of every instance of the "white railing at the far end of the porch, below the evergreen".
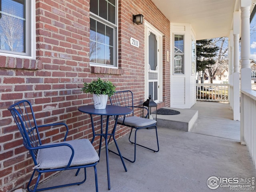
M 197 83 L 196 100 L 228 102 L 228 84 Z

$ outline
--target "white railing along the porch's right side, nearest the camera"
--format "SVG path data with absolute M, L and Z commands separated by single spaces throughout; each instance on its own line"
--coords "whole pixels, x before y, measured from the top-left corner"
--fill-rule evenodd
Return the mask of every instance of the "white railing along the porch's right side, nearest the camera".
M 256 165 L 256 91 L 241 90 L 241 133 L 240 140 L 246 144 Z M 256 167 L 255 167 L 256 168 Z

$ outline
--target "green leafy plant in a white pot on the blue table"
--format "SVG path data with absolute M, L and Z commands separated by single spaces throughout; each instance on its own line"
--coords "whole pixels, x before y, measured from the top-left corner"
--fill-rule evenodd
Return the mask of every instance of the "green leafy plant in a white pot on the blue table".
M 105 109 L 108 101 L 108 96 L 112 96 L 116 87 L 110 81 L 104 81 L 98 78 L 92 82 L 84 83 L 82 92 L 93 94 L 94 108 Z

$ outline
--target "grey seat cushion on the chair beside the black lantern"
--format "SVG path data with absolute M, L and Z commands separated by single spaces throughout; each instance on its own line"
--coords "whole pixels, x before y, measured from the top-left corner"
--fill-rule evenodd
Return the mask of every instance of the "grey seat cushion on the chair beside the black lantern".
M 118 123 L 124 124 L 127 126 L 133 126 L 133 127 L 145 127 L 145 126 L 150 126 L 153 124 L 156 124 L 156 121 L 153 119 L 146 119 L 142 117 L 137 117 L 137 116 L 130 116 L 124 118 L 118 118 Z

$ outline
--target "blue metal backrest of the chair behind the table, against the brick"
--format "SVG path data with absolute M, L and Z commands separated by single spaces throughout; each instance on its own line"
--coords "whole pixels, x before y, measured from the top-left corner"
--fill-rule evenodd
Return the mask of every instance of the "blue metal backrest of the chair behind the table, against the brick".
M 111 105 L 118 105 L 132 109 L 132 113 L 126 116 L 134 116 L 133 94 L 130 90 L 116 91 L 109 97 Z

